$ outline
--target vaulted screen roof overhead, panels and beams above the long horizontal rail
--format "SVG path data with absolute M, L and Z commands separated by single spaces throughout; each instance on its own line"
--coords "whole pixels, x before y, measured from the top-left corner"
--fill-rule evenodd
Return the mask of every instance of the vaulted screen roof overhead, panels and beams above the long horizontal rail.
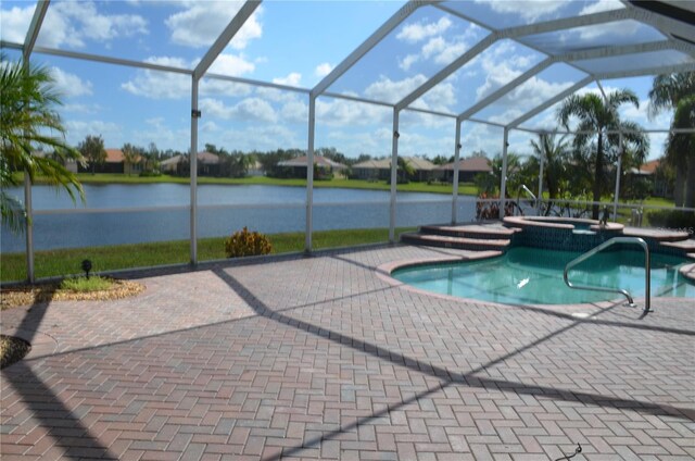
M 162 71 L 182 90 L 207 75 L 518 126 L 587 84 L 695 70 L 687 1 L 389 1 L 359 16 L 351 2 L 3 4 L 3 49 L 136 67 L 128 84 L 142 92 Z M 287 21 L 262 30 L 263 17 Z M 547 91 L 514 107 L 538 82 Z

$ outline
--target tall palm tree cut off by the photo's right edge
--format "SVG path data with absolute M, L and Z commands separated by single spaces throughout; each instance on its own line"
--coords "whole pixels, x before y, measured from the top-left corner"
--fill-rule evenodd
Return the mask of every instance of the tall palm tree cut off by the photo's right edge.
M 674 110 L 671 128 L 693 128 L 695 123 L 695 72 L 658 75 L 649 90 L 649 115 Z M 695 207 L 695 139 L 693 134 L 670 133 L 666 161 L 675 171 L 673 199 L 677 207 Z M 687 178 L 686 178 L 687 176 Z M 683 190 L 686 189 L 685 200 Z

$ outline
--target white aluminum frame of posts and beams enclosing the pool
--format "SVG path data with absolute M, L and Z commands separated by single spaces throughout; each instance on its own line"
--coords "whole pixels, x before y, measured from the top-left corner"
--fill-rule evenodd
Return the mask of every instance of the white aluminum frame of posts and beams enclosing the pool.
M 316 100 L 319 97 L 327 98 L 339 98 L 355 102 L 369 103 L 369 104 L 378 104 L 381 107 L 388 107 L 393 110 L 393 122 L 392 122 L 392 149 L 391 149 L 391 195 L 390 195 L 390 205 L 389 205 L 389 240 L 395 241 L 395 223 L 396 223 L 396 179 L 397 179 L 397 149 L 399 149 L 399 121 L 400 113 L 402 111 L 413 111 L 419 113 L 427 113 L 431 115 L 438 115 L 443 117 L 451 117 L 455 121 L 455 129 L 454 129 L 454 158 L 455 158 L 455 166 L 454 166 L 454 186 L 452 194 L 452 223 L 457 222 L 457 196 L 458 196 L 458 161 L 460 158 L 460 138 L 462 138 L 462 124 L 465 121 L 477 122 L 477 123 L 485 123 L 492 126 L 498 126 L 504 130 L 504 140 L 503 140 L 503 164 L 506 166 L 506 150 L 507 150 L 507 140 L 508 135 L 511 129 L 518 129 L 530 133 L 540 133 L 533 129 L 525 128 L 520 126 L 528 120 L 532 119 L 536 114 L 543 112 L 547 108 L 552 107 L 554 103 L 561 100 L 564 97 L 572 94 L 573 91 L 584 87 L 591 82 L 599 82 L 602 79 L 607 78 L 620 78 L 620 77 L 631 77 L 631 76 L 643 76 L 643 75 L 657 75 L 665 73 L 673 73 L 673 72 L 695 72 L 695 64 L 681 64 L 681 65 L 665 65 L 665 66 L 656 66 L 656 67 L 644 67 L 636 68 L 632 71 L 624 72 L 614 72 L 614 73 L 605 73 L 605 74 L 591 74 L 585 70 L 582 70 L 573 64 L 576 61 L 587 60 L 587 59 L 597 59 L 597 58 L 608 58 L 608 57 L 618 57 L 618 55 L 627 55 L 627 54 L 637 54 L 649 51 L 660 51 L 660 50 L 678 50 L 684 53 L 687 53 L 692 57 L 695 57 L 695 27 L 692 24 L 686 24 L 679 18 L 668 17 L 662 14 L 645 10 L 631 3 L 630 1 L 624 1 L 624 9 L 605 11 L 599 13 L 586 14 L 577 17 L 568 17 L 560 18 L 554 21 L 539 22 L 535 24 L 508 27 L 502 29 L 492 28 L 490 25 L 481 24 L 472 17 L 467 16 L 460 11 L 451 8 L 447 2 L 441 0 L 431 0 L 431 1 L 419 1 L 419 0 L 410 0 L 406 2 L 402 8 L 400 8 L 389 20 L 387 20 L 375 33 L 372 33 L 362 45 L 359 45 L 352 53 L 350 53 L 341 63 L 339 63 L 326 77 L 324 77 L 314 88 L 299 88 L 292 87 L 288 85 L 279 85 L 268 82 L 254 80 L 249 78 L 240 78 L 232 77 L 226 75 L 218 74 L 208 74 L 207 70 L 218 57 L 218 54 L 228 46 L 229 41 L 233 38 L 235 34 L 243 26 L 243 24 L 248 21 L 248 18 L 253 14 L 253 12 L 261 4 L 261 0 L 248 0 L 241 7 L 241 9 L 237 12 L 235 17 L 230 21 L 227 27 L 219 34 L 215 42 L 208 48 L 206 53 L 203 55 L 200 63 L 193 70 L 188 68 L 177 68 L 173 66 L 165 66 L 159 64 L 152 64 L 147 62 L 138 62 L 126 59 L 118 59 L 105 55 L 96 55 L 88 53 L 80 53 L 75 51 L 66 51 L 59 49 L 50 49 L 45 47 L 36 47 L 36 40 L 43 25 L 43 18 L 49 9 L 49 0 L 39 0 L 37 2 L 37 7 L 34 12 L 34 16 L 31 20 L 31 24 L 28 28 L 26 38 L 24 43 L 12 43 L 12 42 L 1 42 L 1 48 L 8 49 L 18 49 L 22 51 L 23 59 L 25 62 L 28 62 L 33 54 L 48 54 L 48 55 L 56 55 L 68 59 L 77 59 L 84 61 L 91 62 L 100 62 L 113 65 L 121 66 L 131 66 L 142 70 L 151 70 L 159 72 L 168 72 L 168 73 L 177 73 L 189 75 L 191 77 L 191 133 L 190 133 L 190 162 L 191 162 L 191 177 L 190 177 L 190 262 L 191 264 L 198 263 L 198 249 L 197 249 L 197 239 L 198 239 L 198 198 L 197 198 L 197 152 L 198 152 L 198 117 L 200 116 L 200 112 L 198 109 L 198 89 L 200 79 L 203 77 L 206 78 L 216 78 L 232 83 L 239 83 L 244 85 L 253 85 L 261 87 L 275 88 L 283 91 L 294 91 L 299 94 L 306 95 L 308 98 L 308 135 L 307 135 L 307 186 L 306 186 L 306 226 L 305 226 L 305 251 L 312 251 L 312 234 L 313 234 L 313 159 L 314 159 L 314 144 L 315 144 L 315 130 L 316 130 Z M 658 3 L 658 2 L 656 2 Z M 393 33 L 404 21 L 406 21 L 410 15 L 420 8 L 430 7 L 439 9 L 447 14 L 452 14 L 458 16 L 465 21 L 470 23 L 475 23 L 480 27 L 489 30 L 489 34 L 483 37 L 479 42 L 473 45 L 470 49 L 466 50 L 463 54 L 460 54 L 457 59 L 455 59 L 452 63 L 446 65 L 444 68 L 437 72 L 433 76 L 431 76 L 428 80 L 426 80 L 421 86 L 416 88 L 410 94 L 406 95 L 396 103 L 390 103 L 387 101 L 378 101 L 378 100 L 368 100 L 361 97 L 355 97 L 352 95 L 341 95 L 329 91 L 331 85 L 333 85 L 342 75 L 344 75 L 350 68 L 352 68 L 359 60 L 367 54 L 370 50 L 372 50 L 378 43 L 380 43 L 384 38 L 387 38 L 391 33 Z M 458 71 L 466 63 L 470 62 L 485 49 L 491 47 L 493 43 L 498 40 L 509 39 L 509 40 L 519 40 L 525 36 L 543 34 L 548 32 L 557 32 L 564 29 L 570 29 L 581 26 L 591 26 L 597 24 L 609 24 L 617 21 L 632 20 L 642 24 L 649 25 L 656 29 L 658 29 L 661 34 L 664 34 L 667 39 L 658 40 L 648 43 L 640 43 L 640 45 L 627 45 L 627 46 L 616 46 L 616 47 L 603 47 L 596 49 L 585 49 L 579 50 L 574 52 L 568 52 L 557 55 L 551 55 L 547 52 L 544 52 L 542 49 L 538 47 L 529 46 L 528 43 L 523 43 L 525 47 L 531 48 L 538 51 L 545 57 L 542 60 L 532 66 L 531 68 L 523 72 L 518 77 L 514 78 L 509 83 L 503 85 L 502 87 L 495 89 L 485 98 L 476 102 L 470 108 L 462 111 L 458 114 L 448 114 L 438 111 L 430 111 L 425 109 L 419 109 L 412 107 L 412 104 L 420 97 L 427 94 L 430 89 L 432 89 L 437 84 L 444 80 L 447 76 L 452 75 L 454 72 Z M 503 98 L 505 95 L 508 95 L 518 86 L 522 85 L 528 79 L 532 78 L 534 75 L 538 75 L 545 68 L 549 67 L 556 63 L 565 63 L 577 71 L 581 72 L 585 75 L 584 78 L 581 78 L 578 83 L 561 91 L 559 95 L 548 99 L 536 108 L 533 108 L 520 115 L 516 120 L 506 123 L 493 123 L 489 121 L 483 121 L 475 117 L 475 114 L 489 107 L 494 101 Z M 599 84 L 601 85 L 601 84 Z M 695 129 L 694 129 L 695 130 Z M 691 130 L 686 130 L 691 132 Z M 25 176 L 26 177 L 26 176 Z M 501 189 L 503 190 L 503 207 L 501 210 L 504 210 L 504 191 L 506 188 L 505 184 L 506 177 L 506 167 L 503 167 L 502 175 L 502 184 Z M 542 179 L 541 179 L 542 180 Z M 25 191 L 25 205 L 27 209 L 27 215 L 30 217 L 33 213 L 31 209 L 31 185 L 30 182 L 25 182 L 24 185 Z M 542 184 L 540 184 L 539 189 L 541 190 Z M 616 194 L 617 195 L 617 194 Z M 26 233 L 27 240 L 27 274 L 30 282 L 34 281 L 34 235 L 31 226 L 27 226 Z

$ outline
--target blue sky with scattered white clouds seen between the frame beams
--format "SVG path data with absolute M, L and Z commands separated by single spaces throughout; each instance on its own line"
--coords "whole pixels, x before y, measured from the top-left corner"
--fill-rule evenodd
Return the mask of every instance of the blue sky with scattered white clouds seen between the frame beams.
M 265 1 L 210 72 L 312 88 L 402 5 L 401 1 Z M 38 46 L 192 68 L 239 7 L 232 1 L 52 1 Z M 482 24 L 508 27 L 621 4 L 612 0 L 471 0 L 448 2 L 448 7 Z M 2 2 L 3 40 L 23 40 L 34 8 L 34 2 Z M 484 27 L 440 9 L 421 8 L 329 91 L 397 102 L 488 34 Z M 601 46 L 647 39 L 654 39 L 652 29 L 626 23 L 531 37 L 528 42 L 552 43 L 561 50 L 578 40 Z M 71 142 L 101 135 L 106 147 L 154 142 L 160 149 L 189 148 L 190 77 L 46 54 L 34 59 L 52 68 L 64 95 L 61 114 Z M 501 40 L 413 105 L 460 113 L 542 59 L 543 54 L 529 47 Z M 551 66 L 476 116 L 511 121 L 582 76 L 567 65 Z M 607 91 L 627 87 L 640 97 L 640 109 L 626 108 L 624 117 L 647 128 L 668 128 L 669 113 L 654 121 L 646 116 L 650 84 L 652 77 L 603 82 Z M 597 90 L 595 85 L 583 91 L 592 90 Z M 302 94 L 205 78 L 200 94 L 200 149 L 205 142 L 244 151 L 305 149 L 307 105 Z M 351 157 L 389 154 L 391 120 L 389 108 L 321 97 L 317 101 L 316 146 L 336 147 Z M 555 126 L 553 109 L 523 126 Z M 452 119 L 404 112 L 400 152 L 451 155 L 454 129 Z M 494 154 L 502 148 L 501 128 L 465 123 L 463 133 L 464 155 L 480 149 Z M 529 136 L 511 132 L 510 148 L 528 152 Z M 661 153 L 664 139 L 665 135 L 652 136 L 652 158 Z

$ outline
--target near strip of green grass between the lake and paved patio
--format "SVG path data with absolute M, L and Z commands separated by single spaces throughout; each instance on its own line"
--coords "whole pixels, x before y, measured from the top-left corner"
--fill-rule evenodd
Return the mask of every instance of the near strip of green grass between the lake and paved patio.
M 396 236 L 412 228 L 397 228 Z M 268 235 L 273 244 L 273 253 L 288 253 L 304 250 L 304 233 Z M 225 259 L 225 237 L 202 238 L 198 240 L 200 261 Z M 389 240 L 388 228 L 345 229 L 315 232 L 313 248 L 339 248 L 363 244 L 378 244 Z M 165 264 L 181 264 L 190 260 L 188 240 L 162 241 L 152 244 L 118 245 L 111 247 L 90 247 L 37 251 L 35 272 L 37 278 L 66 276 L 81 273 L 83 260 L 89 259 L 93 272 L 118 269 L 147 267 Z M 0 254 L 0 281 L 16 282 L 26 279 L 26 259 L 24 253 Z

